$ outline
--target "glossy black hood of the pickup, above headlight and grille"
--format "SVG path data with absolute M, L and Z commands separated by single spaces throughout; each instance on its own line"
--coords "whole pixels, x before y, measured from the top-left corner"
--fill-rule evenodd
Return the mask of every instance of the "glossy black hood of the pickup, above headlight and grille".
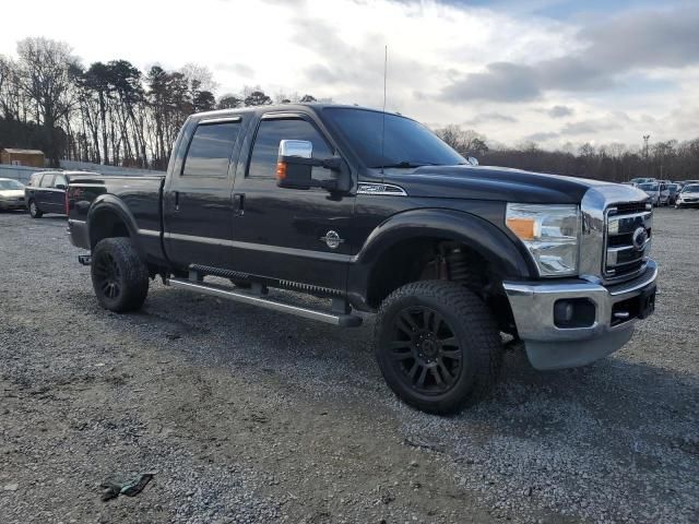
M 378 177 L 381 177 L 379 174 Z M 423 166 L 384 170 L 382 181 L 401 186 L 408 195 L 440 199 L 497 200 L 532 204 L 579 204 L 591 188 L 614 187 L 619 202 L 647 199 L 630 186 L 584 178 L 485 166 Z M 611 188 L 609 188 L 611 189 Z

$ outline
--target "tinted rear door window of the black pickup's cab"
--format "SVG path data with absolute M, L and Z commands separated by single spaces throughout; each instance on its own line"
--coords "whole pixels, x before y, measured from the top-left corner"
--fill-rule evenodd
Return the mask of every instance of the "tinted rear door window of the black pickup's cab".
M 199 124 L 182 167 L 185 177 L 226 177 L 240 122 Z

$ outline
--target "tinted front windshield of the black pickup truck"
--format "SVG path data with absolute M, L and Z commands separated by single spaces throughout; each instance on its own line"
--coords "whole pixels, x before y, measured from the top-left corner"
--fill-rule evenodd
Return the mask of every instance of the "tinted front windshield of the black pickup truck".
M 422 123 L 367 109 L 328 108 L 324 111 L 367 167 L 453 166 L 463 156 Z M 383 154 L 381 134 L 383 126 Z

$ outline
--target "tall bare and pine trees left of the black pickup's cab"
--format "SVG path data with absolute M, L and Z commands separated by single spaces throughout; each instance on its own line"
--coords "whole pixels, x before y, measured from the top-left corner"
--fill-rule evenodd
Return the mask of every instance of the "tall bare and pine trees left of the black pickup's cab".
M 141 71 L 111 60 L 84 67 L 66 43 L 25 38 L 15 59 L 0 56 L 0 147 L 42 150 L 52 166 L 67 158 L 164 169 L 193 112 L 316 102 L 285 93 L 273 100 L 259 86 L 216 98 L 215 90 L 201 66 Z

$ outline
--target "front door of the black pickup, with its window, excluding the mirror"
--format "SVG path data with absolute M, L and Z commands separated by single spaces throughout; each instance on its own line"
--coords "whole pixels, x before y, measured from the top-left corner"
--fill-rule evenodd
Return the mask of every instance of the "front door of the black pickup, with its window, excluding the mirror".
M 266 114 L 257 126 L 234 186 L 236 270 L 345 293 L 354 195 L 276 186 L 280 141 L 311 142 L 313 158 L 333 156 L 335 146 L 310 115 Z M 331 176 L 313 168 L 316 179 Z

